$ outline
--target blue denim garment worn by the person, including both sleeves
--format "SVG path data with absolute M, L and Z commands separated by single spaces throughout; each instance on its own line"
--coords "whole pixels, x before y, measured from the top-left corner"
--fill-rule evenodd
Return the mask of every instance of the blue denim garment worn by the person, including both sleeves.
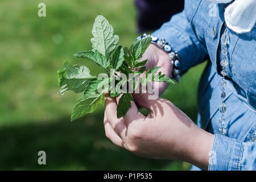
M 207 67 L 198 89 L 197 125 L 214 134 L 209 170 L 255 170 L 256 28 L 237 34 L 229 30 L 229 66 L 225 86 L 226 135 L 218 134 L 221 104 L 221 46 L 225 4 L 187 0 L 183 12 L 172 16 L 152 35 L 164 38 L 179 53 L 181 75 L 204 60 Z M 255 16 L 253 14 L 252 16 Z M 192 169 L 199 169 L 192 167 Z

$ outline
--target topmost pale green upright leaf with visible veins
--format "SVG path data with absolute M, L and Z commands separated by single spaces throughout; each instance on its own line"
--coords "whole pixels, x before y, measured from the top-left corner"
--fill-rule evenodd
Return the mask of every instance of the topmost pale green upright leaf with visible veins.
M 93 24 L 92 34 L 94 37 L 90 39 L 93 49 L 108 57 L 110 52 L 117 47 L 119 41 L 119 37 L 113 33 L 112 25 L 99 14 Z

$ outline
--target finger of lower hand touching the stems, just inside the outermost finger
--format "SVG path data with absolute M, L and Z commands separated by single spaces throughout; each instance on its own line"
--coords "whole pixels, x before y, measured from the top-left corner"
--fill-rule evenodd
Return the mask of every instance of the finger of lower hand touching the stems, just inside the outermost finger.
M 125 137 L 126 125 L 123 122 L 123 118 L 117 118 L 117 102 L 115 98 L 109 97 L 108 94 L 105 96 L 105 113 L 115 133 L 120 138 Z

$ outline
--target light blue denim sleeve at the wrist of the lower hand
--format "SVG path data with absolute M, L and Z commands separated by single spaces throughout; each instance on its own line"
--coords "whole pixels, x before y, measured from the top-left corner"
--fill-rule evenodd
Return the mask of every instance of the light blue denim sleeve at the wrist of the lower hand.
M 256 169 L 256 142 L 214 135 L 214 142 L 209 161 L 209 171 L 237 171 Z

